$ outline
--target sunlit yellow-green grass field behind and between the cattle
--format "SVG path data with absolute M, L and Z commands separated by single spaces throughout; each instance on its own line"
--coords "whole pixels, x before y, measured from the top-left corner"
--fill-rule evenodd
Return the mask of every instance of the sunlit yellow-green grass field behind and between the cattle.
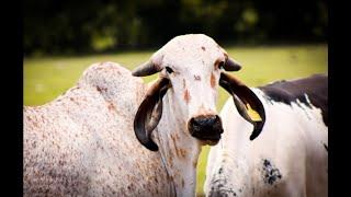
M 327 45 L 261 46 L 225 48 L 230 57 L 242 63 L 235 74 L 250 86 L 281 79 L 307 77 L 328 72 Z M 46 57 L 24 59 L 24 105 L 44 104 L 72 86 L 82 71 L 99 61 L 118 62 L 128 69 L 146 61 L 152 51 L 118 53 L 81 57 Z M 145 82 L 155 79 L 144 78 Z M 219 90 L 217 109 L 228 94 Z M 208 147 L 204 147 L 197 166 L 197 196 L 203 196 Z

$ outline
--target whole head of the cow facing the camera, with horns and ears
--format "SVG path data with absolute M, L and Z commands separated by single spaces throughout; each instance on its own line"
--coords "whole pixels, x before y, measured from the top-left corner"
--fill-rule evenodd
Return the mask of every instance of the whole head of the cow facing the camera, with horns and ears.
M 160 72 L 158 81 L 149 88 L 136 114 L 134 129 L 138 140 L 148 149 L 158 150 L 150 134 L 161 118 L 162 97 L 167 92 L 169 101 L 185 118 L 190 135 L 207 144 L 217 143 L 223 132 L 216 111 L 218 84 L 233 95 L 236 85 L 240 86 L 237 95 L 244 99 L 234 95 L 234 101 L 239 113 L 256 124 L 247 113 L 246 104 L 264 117 L 262 104 L 257 104 L 259 100 L 248 88 L 224 72 L 238 71 L 240 68 L 238 62 L 205 35 L 184 35 L 171 39 L 148 62 L 133 71 L 134 76 L 139 77 Z

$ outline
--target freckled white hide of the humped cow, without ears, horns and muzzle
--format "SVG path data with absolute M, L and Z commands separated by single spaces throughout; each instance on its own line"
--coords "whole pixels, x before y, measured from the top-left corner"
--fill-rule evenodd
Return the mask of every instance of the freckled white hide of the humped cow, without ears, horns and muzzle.
M 171 81 L 152 138 L 136 139 L 134 116 L 147 88 L 117 63 L 91 66 L 55 101 L 24 107 L 24 196 L 194 196 L 201 150 L 191 117 L 216 114 L 225 51 L 202 34 L 178 36 L 154 56 Z

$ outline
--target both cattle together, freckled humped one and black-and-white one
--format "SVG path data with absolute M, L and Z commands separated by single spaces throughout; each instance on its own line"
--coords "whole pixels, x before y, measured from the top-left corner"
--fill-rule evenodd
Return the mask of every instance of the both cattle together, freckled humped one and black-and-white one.
M 229 73 L 240 69 L 203 34 L 134 71 L 90 66 L 54 101 L 24 106 L 23 195 L 195 196 L 210 144 L 206 196 L 328 196 L 328 76 L 248 88 Z M 230 97 L 218 113 L 219 88 Z

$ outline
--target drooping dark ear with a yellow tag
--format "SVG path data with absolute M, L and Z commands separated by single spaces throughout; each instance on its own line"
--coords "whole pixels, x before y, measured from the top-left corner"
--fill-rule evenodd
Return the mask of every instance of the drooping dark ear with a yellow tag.
M 242 82 L 227 73 L 220 73 L 219 85 L 233 96 L 239 114 L 253 125 L 250 140 L 257 138 L 265 123 L 264 107 L 257 95 Z

